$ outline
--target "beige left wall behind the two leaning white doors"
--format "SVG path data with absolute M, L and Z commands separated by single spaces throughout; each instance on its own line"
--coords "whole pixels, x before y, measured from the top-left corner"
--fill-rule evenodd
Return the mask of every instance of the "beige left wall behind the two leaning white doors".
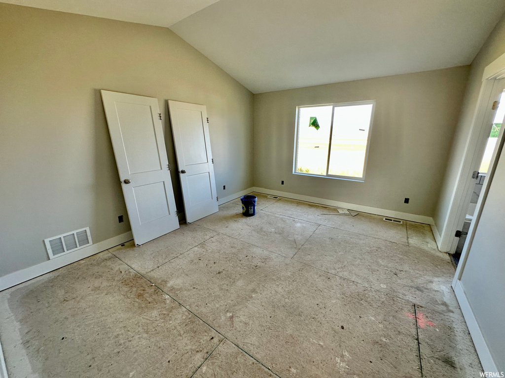
M 252 94 L 169 29 L 0 3 L 0 276 L 130 229 L 100 89 L 159 99 L 173 167 L 166 100 L 207 105 L 219 197 L 252 186 Z

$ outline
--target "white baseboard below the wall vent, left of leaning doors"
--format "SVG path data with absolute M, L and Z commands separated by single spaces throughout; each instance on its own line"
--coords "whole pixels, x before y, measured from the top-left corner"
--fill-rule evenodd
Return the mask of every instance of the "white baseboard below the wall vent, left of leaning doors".
M 91 255 L 97 254 L 131 239 L 133 239 L 133 234 L 131 231 L 128 231 L 124 234 L 100 241 L 99 243 L 91 244 L 90 246 L 76 250 L 73 253 L 57 257 L 53 260 L 44 261 L 43 263 L 13 272 L 4 277 L 0 277 L 0 291 L 52 272 L 64 267 L 65 265 L 75 263 L 76 261 L 85 259 Z M 0 378 L 2 378 L 1 375 Z

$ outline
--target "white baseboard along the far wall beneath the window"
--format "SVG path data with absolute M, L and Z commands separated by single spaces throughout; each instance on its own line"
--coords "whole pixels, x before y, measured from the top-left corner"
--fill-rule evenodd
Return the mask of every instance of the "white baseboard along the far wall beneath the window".
M 344 209 L 361 211 L 363 213 L 377 214 L 377 215 L 381 215 L 381 216 L 384 216 L 384 217 L 398 218 L 398 219 L 408 220 L 408 221 L 411 221 L 411 222 L 425 223 L 425 224 L 429 224 L 429 225 L 434 224 L 433 218 L 427 217 L 427 216 L 424 216 L 424 215 L 402 213 L 402 212 L 399 212 L 399 211 L 379 209 L 379 208 L 370 207 L 370 206 L 348 204 L 348 203 L 345 203 L 345 202 L 334 201 L 334 200 L 327 200 L 327 199 L 324 199 L 324 198 L 310 197 L 310 196 L 304 196 L 304 195 L 301 195 L 301 194 L 294 194 L 294 193 L 274 191 L 274 190 L 271 190 L 271 189 L 265 189 L 263 187 L 254 187 L 254 192 L 264 193 L 264 194 L 270 194 L 270 195 L 279 196 L 279 197 L 290 198 L 290 199 L 293 199 L 293 200 L 313 202 L 313 203 L 321 204 L 321 205 L 328 205 L 328 206 L 334 206 L 334 207 L 339 207 L 339 208 L 344 208 Z

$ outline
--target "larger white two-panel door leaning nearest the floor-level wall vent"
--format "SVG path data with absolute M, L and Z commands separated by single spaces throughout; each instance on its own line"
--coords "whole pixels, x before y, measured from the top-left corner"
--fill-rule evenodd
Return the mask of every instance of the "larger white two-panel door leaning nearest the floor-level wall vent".
M 179 228 L 158 100 L 100 91 L 135 244 Z

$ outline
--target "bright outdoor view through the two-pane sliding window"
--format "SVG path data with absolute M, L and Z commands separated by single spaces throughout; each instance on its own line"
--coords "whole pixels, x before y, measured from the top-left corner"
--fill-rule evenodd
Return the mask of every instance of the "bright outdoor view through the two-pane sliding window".
M 364 180 L 375 101 L 298 106 L 294 172 Z

